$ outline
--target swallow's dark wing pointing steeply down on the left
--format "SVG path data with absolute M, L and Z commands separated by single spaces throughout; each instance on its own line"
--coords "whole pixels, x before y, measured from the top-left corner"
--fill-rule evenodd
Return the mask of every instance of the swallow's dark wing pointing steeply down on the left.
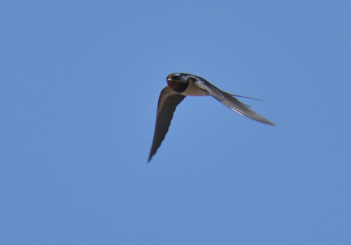
M 176 110 L 177 105 L 179 105 L 184 98 L 184 95 L 177 93 L 168 86 L 161 91 L 157 104 L 155 132 L 148 161 L 151 160 L 152 156 L 160 147 L 161 142 L 168 132 L 173 113 Z

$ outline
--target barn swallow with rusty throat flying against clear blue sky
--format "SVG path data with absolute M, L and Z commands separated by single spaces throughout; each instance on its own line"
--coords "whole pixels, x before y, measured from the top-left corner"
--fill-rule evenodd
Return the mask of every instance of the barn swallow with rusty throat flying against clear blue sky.
M 161 90 L 158 99 L 155 132 L 149 155 L 149 162 L 168 132 L 168 127 L 171 124 L 173 113 L 177 105 L 179 105 L 186 96 L 210 95 L 244 117 L 251 118 L 261 123 L 275 125 L 256 112 L 250 110 L 247 105 L 234 98 L 233 94 L 218 89 L 204 78 L 186 73 L 172 73 L 167 77 L 167 84 L 168 86 Z

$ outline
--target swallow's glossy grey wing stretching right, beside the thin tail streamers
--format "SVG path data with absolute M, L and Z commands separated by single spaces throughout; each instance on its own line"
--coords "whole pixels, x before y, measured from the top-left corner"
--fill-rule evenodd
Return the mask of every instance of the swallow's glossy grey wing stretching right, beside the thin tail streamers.
M 201 89 L 205 90 L 212 97 L 216 98 L 220 103 L 226 105 L 240 115 L 259 121 L 261 123 L 275 125 L 271 121 L 249 109 L 249 107 L 241 103 L 237 98 L 234 98 L 231 94 L 221 91 L 216 86 L 213 86 L 211 83 L 207 82 L 205 79 L 198 78 L 194 83 Z

